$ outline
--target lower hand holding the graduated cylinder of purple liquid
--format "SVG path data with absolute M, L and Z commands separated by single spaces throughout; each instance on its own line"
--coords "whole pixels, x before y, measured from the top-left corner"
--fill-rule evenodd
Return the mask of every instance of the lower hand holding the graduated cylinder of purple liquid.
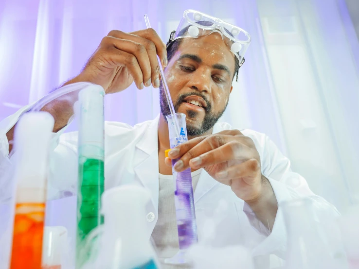
M 229 185 L 242 200 L 259 200 L 263 192 L 261 162 L 253 140 L 238 130 L 193 138 L 169 152 L 165 163 L 179 159 L 175 170 L 204 168 L 215 180 Z

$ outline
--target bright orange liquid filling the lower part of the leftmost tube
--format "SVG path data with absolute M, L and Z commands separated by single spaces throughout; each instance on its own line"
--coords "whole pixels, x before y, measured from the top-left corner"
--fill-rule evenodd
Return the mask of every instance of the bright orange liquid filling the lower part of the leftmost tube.
M 41 269 L 45 203 L 17 203 L 10 269 Z

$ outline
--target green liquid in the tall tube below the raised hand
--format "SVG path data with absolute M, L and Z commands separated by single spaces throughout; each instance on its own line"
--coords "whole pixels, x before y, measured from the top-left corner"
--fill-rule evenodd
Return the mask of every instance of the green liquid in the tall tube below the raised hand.
M 104 192 L 104 161 L 80 157 L 77 190 L 77 261 L 80 268 L 90 253 L 80 253 L 84 249 L 86 236 L 104 223 L 100 214 L 101 195 Z

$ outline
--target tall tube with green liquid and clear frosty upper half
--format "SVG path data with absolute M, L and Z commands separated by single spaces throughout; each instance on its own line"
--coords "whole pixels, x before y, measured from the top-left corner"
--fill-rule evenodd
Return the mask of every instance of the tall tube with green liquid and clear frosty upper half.
M 104 192 L 104 95 L 92 85 L 79 93 L 76 268 L 89 258 L 83 253 L 86 236 L 103 223 L 101 195 Z

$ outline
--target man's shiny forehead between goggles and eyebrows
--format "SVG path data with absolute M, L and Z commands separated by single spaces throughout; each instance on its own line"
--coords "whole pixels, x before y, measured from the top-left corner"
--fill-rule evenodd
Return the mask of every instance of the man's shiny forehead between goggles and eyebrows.
M 212 33 L 199 38 L 183 38 L 179 45 L 179 56 L 181 54 L 195 54 L 198 55 L 203 63 L 209 64 L 223 64 L 234 69 L 234 54 L 228 49 L 224 43 L 222 36 L 218 33 Z

